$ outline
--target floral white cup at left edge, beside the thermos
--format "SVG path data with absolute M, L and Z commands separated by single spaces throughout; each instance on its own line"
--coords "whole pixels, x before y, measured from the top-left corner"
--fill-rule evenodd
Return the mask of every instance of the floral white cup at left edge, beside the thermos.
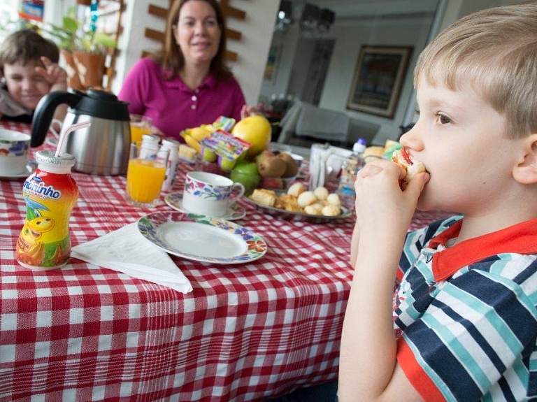
M 29 145 L 28 134 L 0 129 L 0 175 L 26 172 Z

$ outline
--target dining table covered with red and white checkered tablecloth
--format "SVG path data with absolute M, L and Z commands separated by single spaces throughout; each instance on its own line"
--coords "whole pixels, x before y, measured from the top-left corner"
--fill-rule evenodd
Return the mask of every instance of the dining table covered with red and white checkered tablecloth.
M 179 164 L 172 192 L 192 166 Z M 128 206 L 124 175 L 72 175 L 73 246 L 172 211 Z M 336 380 L 354 213 L 304 222 L 240 199 L 234 222 L 266 253 L 237 264 L 170 254 L 192 284 L 182 293 L 72 256 L 52 271 L 20 266 L 23 182 L 0 180 L 0 401 L 264 401 Z M 417 212 L 411 229 L 444 216 Z

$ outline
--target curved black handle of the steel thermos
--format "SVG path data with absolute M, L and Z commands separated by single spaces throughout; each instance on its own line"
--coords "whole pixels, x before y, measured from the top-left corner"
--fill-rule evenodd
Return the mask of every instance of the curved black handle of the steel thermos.
M 80 102 L 81 97 L 80 94 L 63 91 L 52 91 L 43 96 L 37 104 L 34 118 L 31 121 L 30 146 L 38 147 L 45 141 L 52 116 L 59 104 L 67 103 L 71 108 L 74 108 Z

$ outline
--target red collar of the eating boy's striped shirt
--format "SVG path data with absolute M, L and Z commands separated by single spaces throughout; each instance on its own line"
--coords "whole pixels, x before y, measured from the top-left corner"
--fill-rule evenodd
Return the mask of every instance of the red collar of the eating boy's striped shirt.
M 427 247 L 435 249 L 438 245 L 445 246 L 450 238 L 459 236 L 461 225 L 462 220 L 455 222 L 441 234 L 431 238 Z M 537 218 L 468 239 L 436 252 L 432 264 L 434 279 L 436 282 L 446 280 L 464 266 L 503 252 L 537 253 Z

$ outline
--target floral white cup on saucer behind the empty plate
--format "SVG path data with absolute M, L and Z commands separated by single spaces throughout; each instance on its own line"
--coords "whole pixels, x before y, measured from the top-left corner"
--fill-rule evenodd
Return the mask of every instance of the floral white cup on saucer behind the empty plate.
M 238 193 L 237 193 L 238 192 Z M 244 194 L 239 182 L 215 173 L 189 172 L 182 192 L 182 206 L 190 213 L 220 217 Z

